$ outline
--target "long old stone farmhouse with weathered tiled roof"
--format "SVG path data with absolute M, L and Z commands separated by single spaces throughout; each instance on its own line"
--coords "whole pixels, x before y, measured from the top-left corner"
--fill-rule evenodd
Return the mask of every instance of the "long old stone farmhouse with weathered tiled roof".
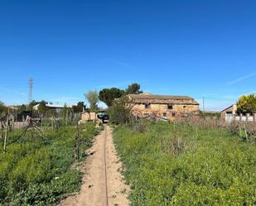
M 199 117 L 199 103 L 188 96 L 155 95 L 151 93 L 129 94 L 136 117 L 158 117 L 176 120 L 183 117 Z

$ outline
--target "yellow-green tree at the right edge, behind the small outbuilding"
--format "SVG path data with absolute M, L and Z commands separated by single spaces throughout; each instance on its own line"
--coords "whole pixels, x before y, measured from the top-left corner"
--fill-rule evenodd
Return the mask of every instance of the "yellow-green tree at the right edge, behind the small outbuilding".
M 241 96 L 237 102 L 238 113 L 256 113 L 256 97 L 254 93 Z

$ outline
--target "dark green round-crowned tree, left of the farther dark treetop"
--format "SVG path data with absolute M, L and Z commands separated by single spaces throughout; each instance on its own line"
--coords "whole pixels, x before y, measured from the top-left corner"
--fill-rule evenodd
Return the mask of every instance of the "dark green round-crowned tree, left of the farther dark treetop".
M 114 99 L 122 97 L 123 93 L 124 91 L 118 88 L 102 89 L 99 92 L 99 100 L 110 107 L 114 102 Z

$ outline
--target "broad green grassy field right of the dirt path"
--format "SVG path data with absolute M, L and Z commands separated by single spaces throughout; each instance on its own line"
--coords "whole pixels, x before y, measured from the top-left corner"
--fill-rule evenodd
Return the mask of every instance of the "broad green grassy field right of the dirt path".
M 131 205 L 256 205 L 256 146 L 220 128 L 142 122 L 114 143 Z

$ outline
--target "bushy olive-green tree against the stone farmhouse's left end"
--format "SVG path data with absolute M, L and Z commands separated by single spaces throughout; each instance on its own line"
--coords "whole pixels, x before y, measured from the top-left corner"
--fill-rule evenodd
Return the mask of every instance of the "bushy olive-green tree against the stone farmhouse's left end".
M 109 108 L 110 121 L 116 124 L 127 123 L 132 118 L 133 103 L 128 96 L 122 96 L 114 100 Z

